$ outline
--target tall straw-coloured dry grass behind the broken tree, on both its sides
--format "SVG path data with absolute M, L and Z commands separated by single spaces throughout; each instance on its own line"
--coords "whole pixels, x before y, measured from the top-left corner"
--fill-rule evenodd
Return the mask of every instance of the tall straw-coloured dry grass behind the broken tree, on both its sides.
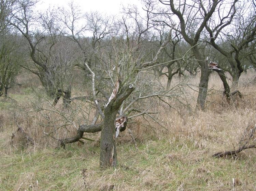
M 179 94 L 178 97 L 174 95 L 174 99 L 168 100 L 172 108 L 169 108 L 165 103 L 156 105 L 159 113 L 155 117 L 159 119 L 162 126 L 166 127 L 171 132 L 173 129 L 176 129 L 174 132 L 182 132 L 185 136 L 198 137 L 198 139 L 201 136 L 195 132 L 202 133 L 209 132 L 209 130 L 210 132 L 218 132 L 224 129 L 224 127 L 227 128 L 227 124 L 229 124 L 228 121 L 233 121 L 233 125 L 241 127 L 249 123 L 253 124 L 256 90 L 256 86 L 252 84 L 254 77 L 254 71 L 249 71 L 246 75 L 241 76 L 237 89 L 242 92 L 243 98 L 240 99 L 235 96 L 232 100 L 233 103 L 228 104 L 222 93 L 223 85 L 221 80 L 217 74 L 212 73 L 209 79 L 206 110 L 203 112 L 195 109 L 199 74 L 196 77 L 174 77 L 172 80 L 173 87 L 180 84 L 181 88 L 179 88 L 179 90 L 183 91 L 183 93 Z M 230 78 L 230 76 L 228 76 L 228 78 Z M 165 86 L 166 78 L 162 77 L 160 80 L 161 84 Z M 229 81 L 229 84 L 231 86 L 231 81 Z M 75 90 L 75 92 L 79 93 L 77 90 Z M 31 98 L 31 96 L 33 96 L 33 94 L 28 94 L 27 99 L 22 99 L 19 103 L 14 103 L 13 106 L 10 107 L 10 110 L 5 108 L 1 113 L 0 120 L 2 123 L 0 129 L 6 132 L 6 135 L 9 134 L 10 136 L 10 133 L 15 131 L 17 125 L 19 125 L 33 137 L 37 146 L 57 146 L 56 139 L 73 136 L 76 133 L 75 128 L 84 123 L 88 124 L 94 117 L 95 108 L 89 103 L 76 101 L 66 110 L 62 107 L 61 101 L 54 107 L 51 103 L 52 100 L 40 98 L 41 101 L 38 101 L 37 98 Z M 143 136 L 151 137 L 166 134 L 163 133 L 166 131 L 163 127 L 153 120 L 148 120 L 149 123 L 142 117 L 137 117 L 130 121 L 128 127 L 134 131 L 134 135 L 137 139 L 143 140 Z M 217 125 L 214 124 L 216 122 Z M 189 132 L 193 132 L 193 134 Z M 51 136 L 47 136 L 47 134 Z M 98 140 L 99 133 L 89 136 L 89 138 Z M 125 136 L 122 136 L 119 141 L 124 142 L 125 139 L 130 140 L 128 132 L 126 132 Z

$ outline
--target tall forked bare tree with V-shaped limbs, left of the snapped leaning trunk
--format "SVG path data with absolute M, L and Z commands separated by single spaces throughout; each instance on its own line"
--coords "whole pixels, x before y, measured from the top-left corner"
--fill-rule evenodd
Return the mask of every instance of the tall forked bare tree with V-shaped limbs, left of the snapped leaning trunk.
M 167 8 L 159 8 L 154 10 L 155 14 L 162 15 L 163 22 L 168 23 L 172 15 L 175 15 L 179 20 L 180 25 L 175 29 L 181 33 L 184 40 L 190 45 L 191 51 L 196 58 L 201 68 L 201 76 L 199 82 L 199 93 L 197 98 L 197 106 L 204 109 L 205 99 L 207 97 L 209 71 L 208 63 L 205 62 L 207 55 L 204 55 L 203 49 L 200 49 L 200 44 L 204 42 L 203 33 L 204 28 L 212 17 L 215 16 L 215 11 L 221 1 L 161 1 L 161 5 Z M 224 6 L 224 5 L 223 5 Z M 207 38 L 207 37 L 206 37 Z

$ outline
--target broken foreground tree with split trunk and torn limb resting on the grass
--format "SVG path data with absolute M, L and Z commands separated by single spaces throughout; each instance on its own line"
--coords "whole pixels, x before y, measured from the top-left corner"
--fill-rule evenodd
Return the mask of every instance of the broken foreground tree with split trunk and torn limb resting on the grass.
M 134 11 L 134 9 L 132 10 Z M 128 113 L 137 112 L 134 116 L 147 115 L 155 120 L 154 117 L 150 115 L 155 113 L 149 111 L 148 108 L 150 106 L 147 106 L 144 110 L 134 109 L 134 103 L 153 97 L 163 100 L 165 97 L 170 97 L 170 92 L 172 91 L 160 90 L 161 87 L 158 86 L 156 91 L 152 92 L 150 85 L 153 81 L 148 80 L 147 82 L 147 80 L 144 79 L 145 74 L 143 72 L 144 70 L 152 68 L 158 62 L 158 56 L 171 40 L 171 32 L 169 32 L 167 39 L 162 42 L 162 45 L 153 55 L 153 58 L 149 58 L 145 50 L 141 48 L 143 43 L 146 43 L 148 40 L 148 30 L 151 28 L 148 22 L 149 19 L 143 20 L 145 21 L 145 23 L 143 23 L 142 20 L 137 19 L 139 13 L 136 9 L 134 12 L 132 10 L 129 10 L 127 13 L 131 22 L 123 18 L 118 24 L 118 27 L 122 26 L 120 27 L 121 30 L 113 29 L 117 31 L 117 33 L 108 32 L 106 36 L 103 35 L 105 38 L 99 39 L 100 33 L 97 36 L 96 32 L 100 27 L 96 27 L 95 24 L 91 25 L 92 28 L 90 30 L 95 32 L 93 33 L 93 39 L 96 39 L 96 37 L 98 39 L 97 46 L 93 46 L 93 48 L 97 50 L 97 64 L 96 62 L 88 63 L 88 52 L 82 44 L 85 39 L 83 35 L 85 34 L 86 26 L 79 26 L 77 24 L 80 19 L 82 20 L 86 17 L 84 17 L 73 4 L 70 6 L 69 14 L 63 16 L 64 12 L 62 12 L 62 16 L 60 17 L 62 22 L 69 29 L 69 34 L 71 34 L 68 35 L 67 33 L 66 37 L 76 42 L 77 47 L 83 54 L 83 57 L 77 60 L 77 62 L 79 62 L 81 66 L 79 68 L 83 70 L 86 68 L 90 73 L 91 85 L 89 88 L 91 88 L 92 93 L 91 100 L 94 102 L 96 108 L 94 119 L 91 121 L 90 125 L 81 125 L 77 129 L 76 136 L 59 140 L 60 145 L 64 146 L 67 143 L 79 141 L 83 138 L 84 132 L 101 131 L 101 167 L 113 167 L 117 164 L 115 139 L 118 133 L 115 135 L 115 131 L 122 125 L 122 122 L 119 122 L 120 117 Z M 150 15 L 146 16 L 146 18 L 149 17 Z M 97 17 L 94 19 L 96 18 Z M 85 20 L 87 19 L 88 18 Z M 93 20 L 90 22 L 107 22 L 102 20 L 101 17 L 98 19 L 98 21 Z M 133 22 L 135 25 L 133 25 Z M 131 29 L 132 26 L 138 29 L 138 31 L 128 30 Z M 123 38 L 124 36 L 126 38 Z M 148 50 L 148 52 L 151 52 L 151 50 Z M 146 85 L 146 87 L 144 85 Z M 137 87 L 138 90 L 135 90 L 135 87 Z M 132 98 L 129 99 L 130 94 L 132 94 Z M 100 97 L 103 97 L 103 101 L 99 99 Z M 102 102 L 105 104 L 102 104 Z M 99 115 L 101 115 L 103 122 L 97 124 L 96 122 Z

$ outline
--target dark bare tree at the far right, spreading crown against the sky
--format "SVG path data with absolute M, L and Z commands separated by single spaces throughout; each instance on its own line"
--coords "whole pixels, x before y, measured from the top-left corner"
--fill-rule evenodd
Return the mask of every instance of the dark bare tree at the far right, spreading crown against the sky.
M 244 71 L 242 63 L 244 51 L 255 40 L 256 35 L 255 7 L 245 2 L 236 7 L 236 3 L 237 1 L 232 2 L 224 17 L 221 16 L 223 13 L 218 11 L 220 18 L 218 23 L 209 22 L 206 26 L 211 37 L 210 44 L 227 58 L 231 66 L 232 87 L 238 85 L 239 77 Z

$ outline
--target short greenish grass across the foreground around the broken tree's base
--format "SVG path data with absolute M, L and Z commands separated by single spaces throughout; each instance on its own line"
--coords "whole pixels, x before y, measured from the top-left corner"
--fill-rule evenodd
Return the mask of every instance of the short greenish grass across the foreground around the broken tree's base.
M 116 169 L 99 168 L 99 147 L 13 151 L 1 156 L 1 190 L 237 190 L 254 189 L 256 156 L 211 158 L 192 142 L 168 138 L 118 144 Z M 85 172 L 82 174 L 82 169 Z

